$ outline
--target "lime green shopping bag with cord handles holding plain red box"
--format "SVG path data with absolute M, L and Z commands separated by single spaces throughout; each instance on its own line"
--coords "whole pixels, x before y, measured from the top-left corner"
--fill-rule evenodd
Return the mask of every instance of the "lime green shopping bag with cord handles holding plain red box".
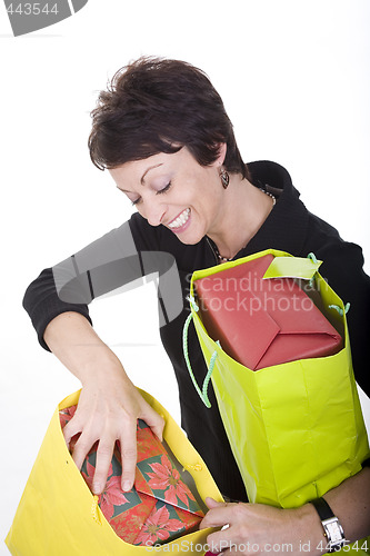
M 263 279 L 299 277 L 314 280 L 326 307 L 343 330 L 344 346 L 328 357 L 293 360 L 251 370 L 227 355 L 207 332 L 194 299 L 197 280 L 271 254 Z M 361 469 L 369 444 L 353 377 L 346 309 L 318 272 L 320 261 L 266 250 L 196 271 L 189 316 L 193 319 L 209 367 L 202 389 L 208 403 L 211 379 L 219 410 L 250 502 L 294 508 L 322 496 Z M 190 355 L 191 359 L 191 355 Z

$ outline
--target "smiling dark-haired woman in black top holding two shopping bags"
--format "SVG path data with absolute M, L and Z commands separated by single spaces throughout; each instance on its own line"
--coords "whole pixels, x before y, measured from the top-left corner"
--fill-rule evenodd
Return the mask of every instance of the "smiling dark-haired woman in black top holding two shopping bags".
M 92 118 L 91 159 L 98 168 L 109 169 L 138 212 L 79 254 L 43 270 L 24 297 L 41 345 L 82 383 L 78 410 L 64 428 L 67 443 L 81 433 L 73 450 L 76 464 L 80 467 L 99 440 L 93 490 L 101 493 L 119 439 L 122 489 L 129 490 L 137 418 L 161 437 L 161 417 L 93 331 L 87 302 L 153 270 L 168 276 L 174 259 L 178 272 L 172 272 L 169 297 L 160 280 L 159 309 L 161 339 L 179 384 L 182 426 L 222 494 L 243 502 L 220 505 L 209 500 L 211 509 L 202 525 L 230 525 L 210 535 L 209 542 L 221 548 L 227 542 L 243 548 L 250 543 L 254 552 L 256 545 L 263 552 L 269 543 L 292 543 L 298 553 L 303 540 L 309 542 L 310 552 L 326 552 L 317 548 L 323 529 L 311 504 L 282 510 L 247 503 L 214 395 L 211 391 L 212 408 L 206 409 L 187 371 L 181 348 L 188 315 L 183 300 L 196 269 L 267 248 L 302 257 L 313 251 L 324 261 L 321 272 L 332 288 L 351 302 L 356 378 L 366 388 L 370 280 L 362 270 L 361 249 L 342 241 L 337 230 L 308 212 L 279 165 L 243 163 L 219 95 L 204 73 L 190 64 L 139 59 L 120 70 L 109 90 L 100 93 Z M 196 336 L 190 336 L 190 342 L 200 383 L 206 374 L 203 357 Z M 369 492 L 370 469 L 366 467 L 326 495 L 350 540 L 370 534 Z

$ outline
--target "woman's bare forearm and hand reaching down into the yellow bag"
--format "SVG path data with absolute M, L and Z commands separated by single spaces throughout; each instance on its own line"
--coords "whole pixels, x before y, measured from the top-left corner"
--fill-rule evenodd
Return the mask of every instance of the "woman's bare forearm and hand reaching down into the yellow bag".
M 98 441 L 92 483 L 94 494 L 104 489 L 116 440 L 122 457 L 122 490 L 130 490 L 137 464 L 137 420 L 140 418 L 162 439 L 164 421 L 128 378 L 116 354 L 80 314 L 66 311 L 44 330 L 50 350 L 82 384 L 73 418 L 63 433 L 67 445 L 80 434 L 72 457 L 79 469 Z

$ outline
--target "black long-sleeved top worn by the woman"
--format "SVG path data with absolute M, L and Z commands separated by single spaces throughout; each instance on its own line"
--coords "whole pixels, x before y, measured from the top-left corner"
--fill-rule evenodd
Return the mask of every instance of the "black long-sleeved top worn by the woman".
M 348 326 L 354 375 L 369 395 L 367 347 L 370 337 L 370 278 L 362 269 L 361 248 L 343 241 L 333 227 L 307 210 L 284 168 L 268 161 L 251 162 L 248 167 L 253 183 L 270 188 L 278 195 L 278 202 L 236 258 L 273 248 L 297 257 L 307 257 L 312 251 L 323 261 L 320 274 L 344 304 L 351 304 Z M 178 302 L 176 280 L 169 286 L 169 277 L 177 275 L 173 274 L 173 258 L 180 275 L 182 309 L 181 302 Z M 230 498 L 247 500 L 211 385 L 209 397 L 212 407 L 208 409 L 193 388 L 182 353 L 182 327 L 189 314 L 186 297 L 191 274 L 217 262 L 207 237 L 197 245 L 187 246 L 168 228 L 152 227 L 139 214 L 134 214 L 120 228 L 53 269 L 43 270 L 27 289 L 23 306 L 37 329 L 40 344 L 48 349 L 43 331 L 57 315 L 74 310 L 90 320 L 87 304 L 91 299 L 159 270 L 160 321 L 167 322 L 161 326 L 160 334 L 179 384 L 182 427 L 206 460 L 220 490 Z M 201 384 L 207 369 L 192 327 L 189 346 L 192 368 L 198 384 Z

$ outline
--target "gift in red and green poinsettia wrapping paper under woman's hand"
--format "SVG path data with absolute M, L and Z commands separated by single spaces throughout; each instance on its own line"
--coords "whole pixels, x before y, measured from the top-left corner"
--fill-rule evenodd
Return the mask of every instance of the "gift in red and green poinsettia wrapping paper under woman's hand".
M 77 406 L 60 411 L 63 428 Z M 72 438 L 71 448 L 77 437 Z M 121 489 L 122 465 L 119 443 L 109 468 L 108 480 L 98 505 L 116 534 L 133 545 L 151 546 L 171 540 L 198 527 L 203 513 L 181 478 L 171 457 L 148 425 L 138 420 L 138 463 L 132 490 Z M 81 474 L 91 489 L 97 445 L 83 461 Z

